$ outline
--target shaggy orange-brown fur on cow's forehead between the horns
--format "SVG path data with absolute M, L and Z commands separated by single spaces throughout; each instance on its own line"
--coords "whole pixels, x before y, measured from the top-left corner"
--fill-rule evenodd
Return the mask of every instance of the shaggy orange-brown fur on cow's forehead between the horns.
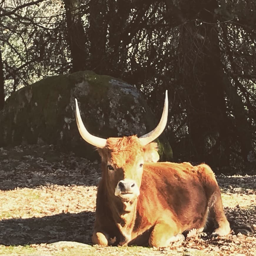
M 110 152 L 111 162 L 117 168 L 127 164 L 134 164 L 136 158 L 143 153 L 143 147 L 136 135 L 123 138 L 108 138 L 107 149 Z

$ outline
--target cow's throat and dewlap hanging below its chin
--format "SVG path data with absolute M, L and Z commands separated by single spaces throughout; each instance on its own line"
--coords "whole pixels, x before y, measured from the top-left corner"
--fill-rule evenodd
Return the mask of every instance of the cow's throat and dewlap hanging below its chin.
M 137 198 L 124 201 L 116 196 L 109 198 L 114 221 L 121 233 L 120 245 L 127 245 L 132 239 L 132 230 L 137 212 Z

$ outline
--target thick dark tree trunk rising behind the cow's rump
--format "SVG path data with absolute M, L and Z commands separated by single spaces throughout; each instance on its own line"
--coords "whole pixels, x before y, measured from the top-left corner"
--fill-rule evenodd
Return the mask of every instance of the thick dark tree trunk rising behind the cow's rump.
M 213 166 L 229 163 L 229 129 L 230 123 L 226 113 L 225 91 L 222 83 L 222 62 L 217 18 L 214 10 L 216 0 L 207 2 L 207 9 L 200 3 L 191 6 L 201 24 L 194 19 L 184 26 L 180 46 L 182 47 L 183 69 L 181 74 L 187 98 L 188 132 L 191 141 L 191 160 L 207 162 Z

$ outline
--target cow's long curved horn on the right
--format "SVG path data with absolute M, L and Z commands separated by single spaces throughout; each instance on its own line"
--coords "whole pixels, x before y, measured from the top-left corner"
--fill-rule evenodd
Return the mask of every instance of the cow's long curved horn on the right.
M 167 90 L 166 90 L 165 91 L 165 100 L 164 100 L 164 110 L 163 110 L 162 117 L 160 119 L 159 124 L 153 131 L 139 137 L 140 143 L 143 146 L 152 142 L 164 131 L 164 128 L 167 124 L 167 116 L 168 116 L 168 94 L 167 94 Z

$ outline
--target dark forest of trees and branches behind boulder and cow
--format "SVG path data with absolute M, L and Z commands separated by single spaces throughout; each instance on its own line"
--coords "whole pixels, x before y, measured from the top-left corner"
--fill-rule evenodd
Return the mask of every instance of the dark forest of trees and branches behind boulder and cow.
M 160 116 L 174 161 L 255 170 L 256 1 L 0 0 L 0 109 L 44 77 L 123 79 Z

